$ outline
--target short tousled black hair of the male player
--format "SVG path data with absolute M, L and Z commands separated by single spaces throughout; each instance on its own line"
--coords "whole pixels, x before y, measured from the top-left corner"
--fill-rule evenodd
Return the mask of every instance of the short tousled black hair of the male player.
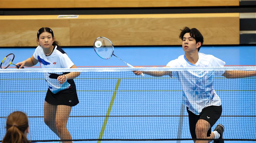
M 201 46 L 203 45 L 203 42 L 204 42 L 204 37 L 203 35 L 199 32 L 198 29 L 196 28 L 188 28 L 188 27 L 184 27 L 183 29 L 180 29 L 181 30 L 181 34 L 180 34 L 180 39 L 183 40 L 183 36 L 186 34 L 186 33 L 189 33 L 191 37 L 193 37 L 196 41 L 196 43 L 198 42 L 201 42 Z M 197 49 L 198 51 L 200 50 L 201 46 Z

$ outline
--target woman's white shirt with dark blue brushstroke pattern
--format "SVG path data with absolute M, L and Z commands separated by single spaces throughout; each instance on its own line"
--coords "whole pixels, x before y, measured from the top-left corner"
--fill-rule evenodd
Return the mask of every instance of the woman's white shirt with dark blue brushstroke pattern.
M 70 68 L 74 65 L 68 55 L 60 47 L 57 46 L 54 47 L 53 52 L 49 56 L 46 56 L 44 54 L 43 48 L 38 46 L 35 49 L 33 56 L 36 60 L 39 61 L 41 68 Z M 67 89 L 69 86 L 75 87 L 73 79 L 68 80 L 63 84 L 59 84 L 57 77 L 63 74 L 63 72 L 44 73 L 45 80 L 47 81 L 49 89 L 52 93 L 57 93 L 63 89 Z

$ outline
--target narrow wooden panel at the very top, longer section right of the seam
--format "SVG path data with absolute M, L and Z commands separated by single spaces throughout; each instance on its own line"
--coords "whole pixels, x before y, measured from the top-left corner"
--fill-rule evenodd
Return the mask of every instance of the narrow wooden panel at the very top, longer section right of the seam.
M 75 0 L 79 8 L 239 6 L 239 0 Z

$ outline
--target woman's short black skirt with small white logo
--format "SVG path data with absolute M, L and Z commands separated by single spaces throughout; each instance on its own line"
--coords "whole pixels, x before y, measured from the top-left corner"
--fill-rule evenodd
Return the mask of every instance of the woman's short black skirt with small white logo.
M 68 88 L 57 93 L 52 93 L 48 88 L 45 101 L 51 105 L 75 106 L 79 103 L 76 88 Z

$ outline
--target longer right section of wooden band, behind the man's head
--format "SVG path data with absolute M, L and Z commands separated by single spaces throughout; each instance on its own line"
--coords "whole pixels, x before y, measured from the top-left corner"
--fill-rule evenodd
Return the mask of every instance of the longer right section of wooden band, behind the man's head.
M 71 45 L 92 45 L 99 36 L 114 45 L 179 45 L 185 26 L 199 29 L 205 44 L 239 44 L 239 14 L 81 15 L 71 22 Z M 93 19 L 92 19 L 93 18 Z M 209 38 L 208 38 L 209 37 Z M 230 39 L 230 38 L 232 39 Z M 86 39 L 86 40 L 85 40 Z

